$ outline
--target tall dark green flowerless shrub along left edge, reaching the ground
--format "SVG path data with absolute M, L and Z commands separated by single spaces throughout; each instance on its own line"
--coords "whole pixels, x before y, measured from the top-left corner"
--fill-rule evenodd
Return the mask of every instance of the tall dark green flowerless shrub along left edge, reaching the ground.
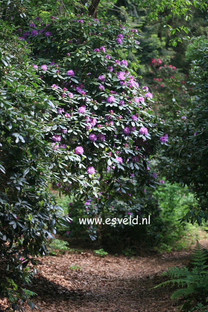
M 0 22 L 0 295 L 16 310 L 33 295 L 25 288 L 36 273 L 34 257 L 47 254 L 48 238 L 65 217 L 49 187 L 53 150 L 41 120 L 52 97 L 25 43 Z

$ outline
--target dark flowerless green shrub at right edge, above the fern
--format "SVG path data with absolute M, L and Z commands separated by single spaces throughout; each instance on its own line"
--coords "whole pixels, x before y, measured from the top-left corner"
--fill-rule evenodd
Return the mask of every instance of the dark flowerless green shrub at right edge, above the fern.
M 172 110 L 163 110 L 168 123 L 171 140 L 159 165 L 166 177 L 188 185 L 199 201 L 199 207 L 191 208 L 183 221 L 197 222 L 208 219 L 207 211 L 207 54 L 206 47 L 196 48 L 196 60 L 192 62 L 193 70 L 191 95 L 188 109 L 187 102 L 178 95 L 172 101 Z M 194 87 L 195 86 L 195 87 Z M 172 98 L 172 96 L 170 96 Z

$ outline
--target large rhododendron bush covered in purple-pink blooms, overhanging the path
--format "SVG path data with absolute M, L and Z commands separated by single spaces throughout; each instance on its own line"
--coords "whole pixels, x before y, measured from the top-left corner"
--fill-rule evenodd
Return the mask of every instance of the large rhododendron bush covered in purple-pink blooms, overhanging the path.
M 32 45 L 33 67 L 58 101 L 43 116 L 57 185 L 103 202 L 126 197 L 130 181 L 120 188 L 122 176 L 153 186 L 147 167 L 165 143 L 163 122 L 153 114 L 148 87 L 115 57 L 118 49 L 138 49 L 137 31 L 81 16 L 31 22 L 38 34 L 29 26 L 20 38 Z

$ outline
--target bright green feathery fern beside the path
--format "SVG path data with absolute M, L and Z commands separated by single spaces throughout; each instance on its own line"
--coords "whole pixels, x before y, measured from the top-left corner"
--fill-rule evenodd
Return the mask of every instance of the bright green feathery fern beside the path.
M 171 299 L 185 298 L 186 303 L 182 309 L 186 308 L 191 300 L 201 301 L 203 304 L 206 302 L 208 295 L 208 252 L 203 246 L 196 241 L 196 246 L 193 249 L 191 257 L 192 268 L 187 267 L 177 268 L 176 266 L 162 273 L 167 276 L 169 280 L 162 282 L 155 286 L 177 285 L 179 289 L 175 290 Z

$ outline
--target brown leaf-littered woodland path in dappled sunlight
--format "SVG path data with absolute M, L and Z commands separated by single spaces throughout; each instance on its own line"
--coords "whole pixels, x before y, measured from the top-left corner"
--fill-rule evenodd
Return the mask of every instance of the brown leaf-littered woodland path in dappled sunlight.
M 40 259 L 31 290 L 41 312 L 174 312 L 171 288 L 151 289 L 164 280 L 168 267 L 187 264 L 190 251 L 127 258 L 95 256 L 93 251 Z M 70 269 L 77 265 L 81 269 Z M 0 311 L 7 307 L 0 300 Z M 1 310 L 2 309 L 2 310 Z M 25 311 L 31 308 L 25 305 Z

